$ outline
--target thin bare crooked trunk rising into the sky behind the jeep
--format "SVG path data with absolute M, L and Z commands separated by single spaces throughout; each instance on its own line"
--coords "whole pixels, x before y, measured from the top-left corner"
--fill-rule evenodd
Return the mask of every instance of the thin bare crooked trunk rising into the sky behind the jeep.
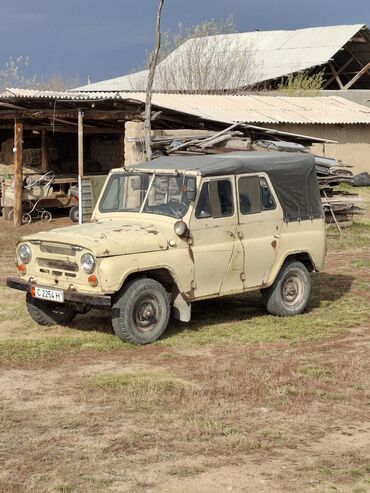
M 152 148 L 151 148 L 151 109 L 152 109 L 152 92 L 153 92 L 153 82 L 154 82 L 154 74 L 155 69 L 158 62 L 159 50 L 161 48 L 161 13 L 163 7 L 164 0 L 159 0 L 158 11 L 157 11 L 157 25 L 156 25 L 156 42 L 153 54 L 151 56 L 150 65 L 149 65 L 149 75 L 148 75 L 148 83 L 146 87 L 146 101 L 145 101 L 145 119 L 144 119 L 144 140 L 145 140 L 145 151 L 146 158 L 149 159 L 152 157 Z

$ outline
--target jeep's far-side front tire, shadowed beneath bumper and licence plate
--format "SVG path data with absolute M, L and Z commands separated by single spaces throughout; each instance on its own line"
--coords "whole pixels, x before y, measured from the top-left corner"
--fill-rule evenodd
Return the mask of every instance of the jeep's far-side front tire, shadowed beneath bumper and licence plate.
M 26 305 L 31 318 L 39 325 L 67 325 L 77 315 L 73 306 L 67 303 L 39 300 L 29 293 L 26 295 Z

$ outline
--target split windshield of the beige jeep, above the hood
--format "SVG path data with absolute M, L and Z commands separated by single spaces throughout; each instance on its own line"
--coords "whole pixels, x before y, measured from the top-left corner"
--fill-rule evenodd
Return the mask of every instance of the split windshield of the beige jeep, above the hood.
M 184 175 L 117 173 L 108 181 L 100 212 L 146 212 L 174 218 L 183 217 L 188 208 Z

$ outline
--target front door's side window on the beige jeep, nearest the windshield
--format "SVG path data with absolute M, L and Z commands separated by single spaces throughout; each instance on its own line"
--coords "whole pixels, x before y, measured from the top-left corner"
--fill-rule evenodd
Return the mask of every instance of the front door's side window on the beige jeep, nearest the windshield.
M 233 190 L 230 180 L 212 180 L 203 183 L 195 217 L 227 217 L 234 214 Z

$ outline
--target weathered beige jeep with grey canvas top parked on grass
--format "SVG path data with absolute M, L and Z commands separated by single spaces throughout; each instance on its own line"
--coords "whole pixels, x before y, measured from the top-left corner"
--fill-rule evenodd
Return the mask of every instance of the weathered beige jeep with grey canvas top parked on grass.
M 260 290 L 270 313 L 301 313 L 325 253 L 311 155 L 163 157 L 112 170 L 90 222 L 22 238 L 7 284 L 41 325 L 109 307 L 146 344 L 207 298 Z

